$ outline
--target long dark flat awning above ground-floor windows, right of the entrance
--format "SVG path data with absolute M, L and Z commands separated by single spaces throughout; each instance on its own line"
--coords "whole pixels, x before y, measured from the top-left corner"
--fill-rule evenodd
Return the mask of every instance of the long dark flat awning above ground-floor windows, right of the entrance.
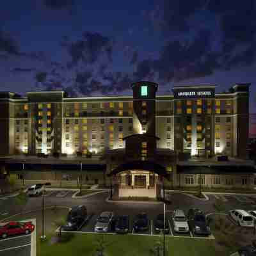
M 232 174 L 232 173 L 256 173 L 254 166 L 180 166 L 177 165 L 177 173 L 184 174 Z

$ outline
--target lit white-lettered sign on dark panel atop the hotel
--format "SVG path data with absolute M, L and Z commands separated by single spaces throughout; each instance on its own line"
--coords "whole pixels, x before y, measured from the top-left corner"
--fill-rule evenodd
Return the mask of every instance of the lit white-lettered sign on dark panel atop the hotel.
M 175 98 L 212 98 L 214 90 L 173 90 Z

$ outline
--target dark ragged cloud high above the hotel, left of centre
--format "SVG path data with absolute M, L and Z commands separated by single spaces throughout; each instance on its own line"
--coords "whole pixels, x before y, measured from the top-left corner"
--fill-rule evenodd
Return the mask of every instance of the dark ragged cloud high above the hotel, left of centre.
M 68 68 L 74 67 L 79 61 L 93 64 L 103 56 L 106 56 L 108 61 L 112 61 L 113 41 L 97 32 L 86 31 L 80 40 L 75 42 L 65 40 L 61 45 L 67 49 L 71 57 L 71 62 L 67 65 Z

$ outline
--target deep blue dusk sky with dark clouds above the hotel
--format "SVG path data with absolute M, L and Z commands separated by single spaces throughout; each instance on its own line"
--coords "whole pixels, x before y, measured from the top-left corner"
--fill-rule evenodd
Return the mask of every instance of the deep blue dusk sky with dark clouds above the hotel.
M 254 0 L 8 0 L 0 90 L 95 96 L 131 94 L 139 80 L 158 83 L 158 93 L 252 83 L 256 113 L 255 43 Z

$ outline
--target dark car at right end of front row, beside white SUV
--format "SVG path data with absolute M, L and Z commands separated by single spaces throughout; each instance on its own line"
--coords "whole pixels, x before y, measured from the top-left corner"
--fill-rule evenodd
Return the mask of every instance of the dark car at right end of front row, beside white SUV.
M 188 224 L 193 234 L 210 236 L 211 230 L 207 225 L 205 215 L 199 209 L 189 209 Z

